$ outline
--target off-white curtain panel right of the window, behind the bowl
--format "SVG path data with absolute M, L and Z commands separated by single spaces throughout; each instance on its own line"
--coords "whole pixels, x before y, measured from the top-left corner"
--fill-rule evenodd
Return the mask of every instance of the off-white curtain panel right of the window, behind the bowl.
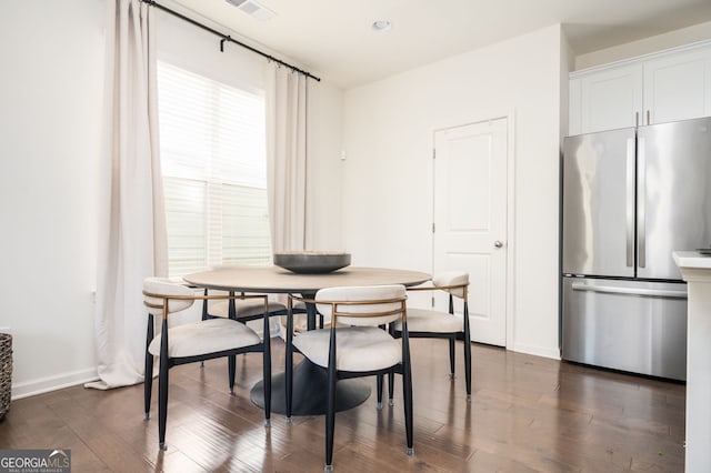
M 304 249 L 307 80 L 278 63 L 267 64 L 267 189 L 272 251 Z

